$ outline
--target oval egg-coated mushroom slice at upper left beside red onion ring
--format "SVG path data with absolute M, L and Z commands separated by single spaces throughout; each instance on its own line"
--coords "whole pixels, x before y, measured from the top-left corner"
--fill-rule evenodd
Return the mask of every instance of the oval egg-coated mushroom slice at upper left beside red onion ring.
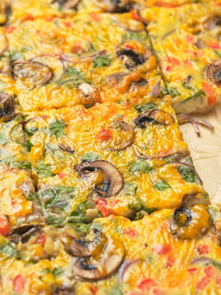
M 36 61 L 17 60 L 13 63 L 13 67 L 14 78 L 24 79 L 30 84 L 46 84 L 52 78 L 52 70 L 47 65 Z

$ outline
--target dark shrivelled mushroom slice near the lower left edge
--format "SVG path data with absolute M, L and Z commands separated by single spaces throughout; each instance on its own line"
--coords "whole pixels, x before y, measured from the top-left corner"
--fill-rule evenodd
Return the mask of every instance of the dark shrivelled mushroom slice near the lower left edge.
M 14 227 L 9 234 L 9 239 L 15 243 L 21 241 L 26 243 L 31 236 L 36 233 L 41 233 L 41 227 L 39 224 L 22 224 L 21 226 Z

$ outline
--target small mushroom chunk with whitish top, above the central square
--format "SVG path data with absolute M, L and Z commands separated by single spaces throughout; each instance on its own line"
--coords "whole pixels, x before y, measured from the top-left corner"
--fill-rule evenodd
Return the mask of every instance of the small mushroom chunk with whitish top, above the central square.
M 97 87 L 90 85 L 89 83 L 82 82 L 78 85 L 77 89 L 85 99 L 85 102 L 95 104 L 100 100 L 100 92 Z

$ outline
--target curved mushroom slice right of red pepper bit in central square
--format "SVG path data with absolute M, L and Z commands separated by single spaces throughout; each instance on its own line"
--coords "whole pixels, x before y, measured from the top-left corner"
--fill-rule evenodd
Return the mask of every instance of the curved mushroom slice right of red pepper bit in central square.
M 105 148 L 105 150 L 123 150 L 124 148 L 126 148 L 128 145 L 131 144 L 131 142 L 133 141 L 133 134 L 134 134 L 134 130 L 133 127 L 131 126 L 131 124 L 125 123 L 123 121 L 116 121 L 116 122 L 112 122 L 111 126 L 112 129 L 121 129 L 122 131 L 125 132 L 129 132 L 129 137 L 126 138 L 126 140 L 124 140 L 124 138 L 122 136 L 118 136 L 118 141 L 116 143 L 108 143 L 109 147 Z

